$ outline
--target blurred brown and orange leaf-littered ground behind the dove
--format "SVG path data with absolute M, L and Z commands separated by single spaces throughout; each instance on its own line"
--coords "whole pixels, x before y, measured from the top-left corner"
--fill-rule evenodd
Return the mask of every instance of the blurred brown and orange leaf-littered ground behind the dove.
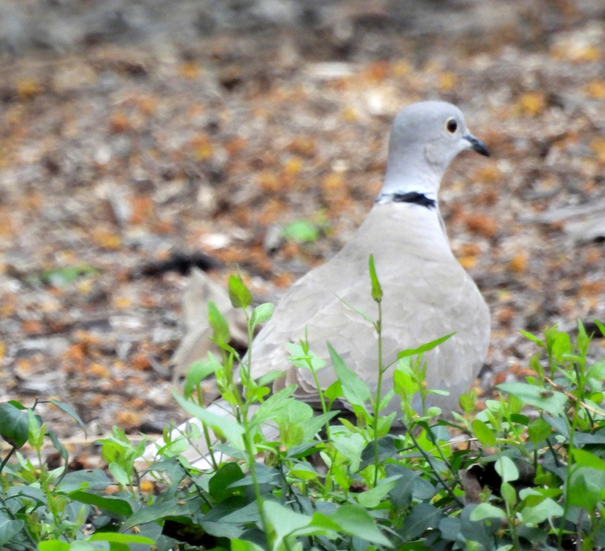
M 278 299 L 363 220 L 417 100 L 492 152 L 440 201 L 491 308 L 484 396 L 525 373 L 519 329 L 605 321 L 601 0 L 3 0 L 0 51 L 0 402 L 64 400 L 93 437 L 184 419 L 191 267 Z

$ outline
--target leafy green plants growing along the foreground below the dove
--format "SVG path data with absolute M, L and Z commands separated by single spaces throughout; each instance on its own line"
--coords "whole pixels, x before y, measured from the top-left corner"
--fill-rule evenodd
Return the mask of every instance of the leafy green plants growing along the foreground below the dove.
M 598 549 L 605 546 L 605 361 L 589 359 L 583 325 L 571 336 L 548 328 L 526 334 L 540 353 L 533 376 L 499 385 L 499 399 L 474 414 L 475 396 L 460 399 L 463 414 L 440 419 L 427 407 L 423 354 L 451 335 L 401 351 L 385 365 L 381 350 L 382 290 L 370 259 L 378 305 L 378 382 L 367 385 L 329 345 L 338 381 L 319 387 L 325 367 L 303 339 L 290 360 L 309 370 L 321 414 L 293 397 L 295 386 L 272 392 L 280 373 L 258 380 L 251 359 L 229 347 L 229 327 L 209 305 L 220 358 L 192 365 L 177 403 L 197 419 L 166 431 L 151 465 L 139 460 L 119 429 L 99 441 L 105 470 L 48 469 L 50 443 L 67 450 L 38 416 L 18 402 L 0 405 L 0 547 L 26 551 L 214 549 L 302 551 L 387 549 Z M 240 278 L 229 295 L 253 330 L 272 307 L 252 307 Z M 365 314 L 360 313 L 366 319 Z M 597 324 L 603 332 L 603 325 Z M 383 391 L 392 370 L 394 388 Z M 237 373 L 240 373 L 241 385 Z M 228 416 L 203 407 L 201 384 L 214 376 Z M 506 394 L 506 396 L 505 396 Z M 402 414 L 384 415 L 394 401 Z M 350 411 L 343 408 L 347 403 Z M 81 420 L 68 405 L 53 404 Z M 419 409 L 418 404 L 420 404 Z M 396 425 L 394 423 L 396 422 Z M 391 434 L 391 428 L 404 428 Z M 279 434 L 267 439 L 267 430 Z M 401 431 L 400 431 L 401 432 Z M 201 443 L 201 444 L 200 444 Z M 181 452 L 212 449 L 194 468 Z M 28 446 L 27 456 L 22 449 Z M 31 457 L 31 458 L 28 458 Z M 150 480 L 155 491 L 149 492 Z M 473 489 L 473 481 L 478 489 Z M 112 492 L 107 490 L 112 487 Z M 117 491 L 115 491 L 117 487 Z M 143 491 L 145 489 L 145 491 Z

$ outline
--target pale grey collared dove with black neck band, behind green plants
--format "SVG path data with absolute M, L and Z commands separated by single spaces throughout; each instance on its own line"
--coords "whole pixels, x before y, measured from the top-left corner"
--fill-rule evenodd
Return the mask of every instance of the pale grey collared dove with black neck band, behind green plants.
M 276 380 L 274 390 L 296 383 L 295 396 L 315 403 L 312 374 L 287 359 L 287 343 L 299 342 L 307 334 L 310 349 L 327 362 L 318 373 L 322 387 L 336 378 L 326 342 L 360 379 L 376 383 L 378 336 L 370 322 L 347 306 L 373 319 L 378 315 L 370 296 L 368 257 L 372 254 L 384 292 L 384 365 L 401 350 L 455 333 L 425 353 L 424 359 L 427 387 L 450 393 L 431 394 L 428 405 L 444 412 L 456 408 L 460 394 L 482 367 L 490 333 L 488 307 L 451 252 L 437 206 L 443 173 L 465 149 L 489 155 L 483 142 L 469 133 L 456 106 L 420 102 L 397 114 L 376 203 L 343 249 L 283 296 L 250 348 L 254 379 L 283 371 L 285 376 Z M 392 387 L 392 369 L 383 384 Z

